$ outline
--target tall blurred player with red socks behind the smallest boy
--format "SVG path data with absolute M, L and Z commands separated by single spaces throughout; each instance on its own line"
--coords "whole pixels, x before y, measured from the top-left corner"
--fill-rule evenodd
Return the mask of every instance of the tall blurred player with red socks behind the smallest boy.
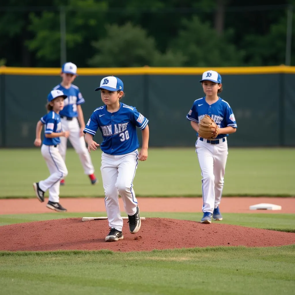
M 64 131 L 70 131 L 68 137 L 76 153 L 78 153 L 82 163 L 84 173 L 89 176 L 92 184 L 97 182 L 94 176 L 94 167 L 91 162 L 90 155 L 87 151 L 83 130 L 85 128 L 85 121 L 81 104 L 85 102 L 79 88 L 73 85 L 73 81 L 77 76 L 77 66 L 73 63 L 65 63 L 61 69 L 60 76 L 62 82 L 55 86 L 53 90 L 58 89 L 68 96 L 65 99 L 65 106 L 60 111 L 61 124 Z M 80 127 L 79 127 L 80 123 Z M 65 161 L 65 153 L 67 150 L 67 137 L 60 139 L 59 150 Z M 65 184 L 64 179 L 61 180 L 61 185 Z

